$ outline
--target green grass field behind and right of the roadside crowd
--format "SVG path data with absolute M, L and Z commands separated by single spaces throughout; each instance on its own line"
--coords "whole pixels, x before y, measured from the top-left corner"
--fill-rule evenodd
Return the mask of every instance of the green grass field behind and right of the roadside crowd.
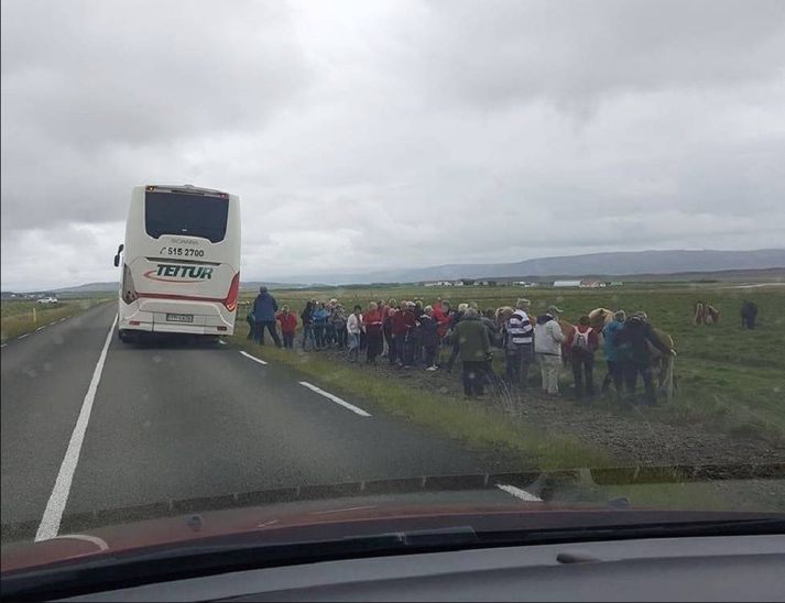
M 426 304 L 437 297 L 454 306 L 475 300 L 480 308 L 514 304 L 517 297 L 533 303 L 534 314 L 550 304 L 575 322 L 593 308 L 645 310 L 652 324 L 669 333 L 678 353 L 675 364 L 676 394 L 672 404 L 653 409 L 652 419 L 699 425 L 737 436 L 772 441 L 785 440 L 785 287 L 752 289 L 722 284 L 635 284 L 604 289 L 555 289 L 520 287 L 335 287 L 316 290 L 274 290 L 279 305 L 297 314 L 307 299 L 339 299 L 346 307 L 371 299 L 414 299 Z M 719 325 L 693 325 L 693 305 L 702 299 L 722 311 Z M 759 306 L 759 326 L 743 330 L 739 309 L 743 299 Z M 244 295 L 242 302 L 250 303 Z M 247 306 L 238 313 L 240 333 L 247 331 Z M 502 369 L 502 354 L 497 354 Z M 598 352 L 596 375 L 604 375 Z M 563 373 L 568 385 L 570 376 Z

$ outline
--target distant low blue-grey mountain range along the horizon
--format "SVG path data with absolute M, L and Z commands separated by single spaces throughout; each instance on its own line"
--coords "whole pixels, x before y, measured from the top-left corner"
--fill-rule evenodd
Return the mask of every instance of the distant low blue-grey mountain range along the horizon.
M 543 279 L 544 277 L 602 277 L 710 273 L 739 270 L 785 268 L 785 249 L 755 251 L 669 250 L 617 251 L 558 257 L 538 257 L 513 263 L 446 264 L 422 268 L 384 270 L 364 273 L 295 275 L 274 281 L 243 282 L 242 289 L 305 287 L 314 285 L 368 285 L 372 283 L 419 283 L 458 278 Z M 118 283 L 88 283 L 54 289 L 55 293 L 117 292 Z M 42 289 L 51 290 L 51 289 Z

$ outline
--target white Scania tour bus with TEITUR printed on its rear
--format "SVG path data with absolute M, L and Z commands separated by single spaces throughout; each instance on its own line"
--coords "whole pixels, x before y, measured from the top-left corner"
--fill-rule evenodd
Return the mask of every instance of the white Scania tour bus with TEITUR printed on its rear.
M 119 337 L 232 335 L 240 292 L 240 200 L 184 186 L 138 186 L 120 265 Z

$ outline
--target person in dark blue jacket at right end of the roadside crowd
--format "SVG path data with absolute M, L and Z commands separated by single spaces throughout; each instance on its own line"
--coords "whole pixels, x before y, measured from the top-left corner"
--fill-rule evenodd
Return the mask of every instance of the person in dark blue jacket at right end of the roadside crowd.
M 637 311 L 624 321 L 624 329 L 620 340 L 629 346 L 629 361 L 625 365 L 624 381 L 626 382 L 626 393 L 631 402 L 635 402 L 635 387 L 637 375 L 643 379 L 645 391 L 645 403 L 654 406 L 657 403 L 657 394 L 654 390 L 654 375 L 652 370 L 652 349 L 659 350 L 663 354 L 675 354 L 656 336 L 654 329 L 648 324 L 646 313 Z

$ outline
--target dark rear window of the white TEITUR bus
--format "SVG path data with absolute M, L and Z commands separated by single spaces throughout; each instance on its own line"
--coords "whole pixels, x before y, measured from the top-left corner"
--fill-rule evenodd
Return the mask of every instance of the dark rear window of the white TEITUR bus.
M 226 235 L 229 199 L 179 193 L 146 193 L 144 228 L 150 237 L 186 234 L 212 243 Z

